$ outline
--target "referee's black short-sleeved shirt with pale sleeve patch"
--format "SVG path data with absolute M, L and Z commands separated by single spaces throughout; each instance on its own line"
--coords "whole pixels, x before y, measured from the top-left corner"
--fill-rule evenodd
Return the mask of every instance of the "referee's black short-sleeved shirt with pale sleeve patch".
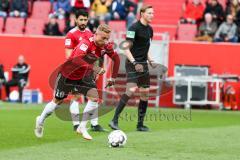
M 132 42 L 130 49 L 134 59 L 137 62 L 146 62 L 151 39 L 153 38 L 153 29 L 150 25 L 143 25 L 140 21 L 134 23 L 127 32 L 127 40 Z

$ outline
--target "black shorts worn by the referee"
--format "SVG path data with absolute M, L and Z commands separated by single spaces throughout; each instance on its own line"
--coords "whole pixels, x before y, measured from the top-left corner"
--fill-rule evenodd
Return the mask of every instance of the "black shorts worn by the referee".
M 127 74 L 128 83 L 136 83 L 138 87 L 149 88 L 150 87 L 150 75 L 147 62 L 141 63 L 143 65 L 143 72 L 137 72 L 135 66 L 126 60 L 125 68 Z

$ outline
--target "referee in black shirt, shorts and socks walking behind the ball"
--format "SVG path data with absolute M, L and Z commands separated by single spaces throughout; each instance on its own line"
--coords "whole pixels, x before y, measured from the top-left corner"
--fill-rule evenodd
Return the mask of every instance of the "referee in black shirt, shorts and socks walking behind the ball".
M 127 88 L 117 105 L 112 121 L 109 123 L 109 127 L 114 130 L 119 129 L 119 115 L 133 93 L 136 92 L 137 88 L 139 88 L 140 91 L 137 131 L 149 130 L 147 126 L 143 125 L 143 121 L 147 111 L 150 87 L 150 76 L 147 61 L 152 67 L 154 67 L 153 61 L 149 57 L 149 48 L 151 39 L 153 38 L 153 29 L 149 23 L 153 19 L 153 14 L 154 11 L 152 6 L 143 6 L 140 10 L 140 20 L 128 29 L 127 41 L 129 41 L 131 45 L 129 45 L 129 49 L 125 50 L 125 55 L 127 56 L 125 64 Z

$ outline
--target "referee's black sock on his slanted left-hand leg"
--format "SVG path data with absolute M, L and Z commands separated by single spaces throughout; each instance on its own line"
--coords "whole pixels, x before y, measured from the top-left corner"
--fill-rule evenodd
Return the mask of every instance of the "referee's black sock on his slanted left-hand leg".
M 126 106 L 128 100 L 129 100 L 129 96 L 127 94 L 123 94 L 118 105 L 117 105 L 117 108 L 115 110 L 115 114 L 114 114 L 114 117 L 113 117 L 113 122 L 114 123 L 118 123 L 118 118 L 119 118 L 119 115 L 121 114 L 121 112 L 123 111 L 124 107 Z

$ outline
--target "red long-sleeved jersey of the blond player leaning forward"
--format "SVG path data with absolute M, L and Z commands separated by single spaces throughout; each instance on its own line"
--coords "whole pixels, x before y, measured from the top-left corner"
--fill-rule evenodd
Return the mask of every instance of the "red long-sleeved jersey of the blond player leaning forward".
M 79 80 L 93 72 L 94 62 L 107 54 L 113 61 L 112 78 L 116 78 L 120 60 L 113 49 L 113 44 L 108 43 L 104 47 L 96 46 L 93 37 L 83 39 L 73 50 L 69 59 L 62 65 L 61 73 L 71 80 Z

